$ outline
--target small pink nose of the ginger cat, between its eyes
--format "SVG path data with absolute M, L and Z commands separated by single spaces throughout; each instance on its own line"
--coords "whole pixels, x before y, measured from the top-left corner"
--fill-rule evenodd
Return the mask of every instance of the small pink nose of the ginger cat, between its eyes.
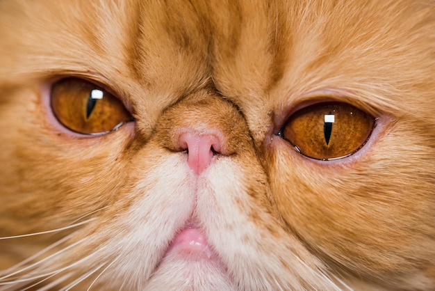
M 220 139 L 215 134 L 185 132 L 179 136 L 179 146 L 188 152 L 188 165 L 201 174 L 210 164 L 213 155 L 220 152 Z

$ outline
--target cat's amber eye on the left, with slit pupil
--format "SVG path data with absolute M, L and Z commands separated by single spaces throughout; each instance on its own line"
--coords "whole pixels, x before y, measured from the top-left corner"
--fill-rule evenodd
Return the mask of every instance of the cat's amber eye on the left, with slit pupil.
M 51 108 L 62 125 L 80 134 L 105 134 L 133 120 L 115 96 L 77 78 L 53 84 Z

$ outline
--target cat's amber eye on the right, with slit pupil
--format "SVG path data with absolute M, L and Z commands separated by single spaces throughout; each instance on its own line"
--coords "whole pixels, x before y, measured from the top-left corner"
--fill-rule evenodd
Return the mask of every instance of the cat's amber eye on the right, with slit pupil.
M 314 104 L 296 111 L 280 135 L 306 157 L 337 159 L 347 157 L 368 141 L 375 118 L 340 102 Z

